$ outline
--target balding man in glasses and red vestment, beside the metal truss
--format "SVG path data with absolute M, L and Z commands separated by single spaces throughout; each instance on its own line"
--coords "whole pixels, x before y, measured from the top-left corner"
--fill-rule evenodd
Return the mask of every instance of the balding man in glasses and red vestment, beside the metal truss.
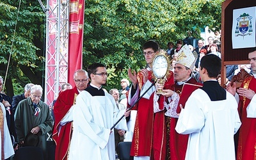
M 74 73 L 76 86 L 71 90 L 61 92 L 54 104 L 54 128 L 52 138 L 56 143 L 55 159 L 67 159 L 69 144 L 72 136 L 72 121 L 67 122 L 65 118 L 72 116 L 70 108 L 76 104 L 77 95 L 88 85 L 88 72 L 77 70 Z

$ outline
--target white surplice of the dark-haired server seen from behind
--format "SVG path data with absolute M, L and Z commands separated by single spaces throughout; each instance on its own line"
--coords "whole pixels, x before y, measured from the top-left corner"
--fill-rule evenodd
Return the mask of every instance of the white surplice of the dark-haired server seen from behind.
M 236 159 L 234 134 L 241 125 L 234 96 L 211 101 L 207 93 L 195 90 L 186 102 L 175 130 L 189 134 L 186 159 Z

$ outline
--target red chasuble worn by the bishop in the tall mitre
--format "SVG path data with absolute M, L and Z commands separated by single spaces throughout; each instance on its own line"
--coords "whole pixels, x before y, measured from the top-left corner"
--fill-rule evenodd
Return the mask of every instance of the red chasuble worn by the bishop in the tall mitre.
M 202 86 L 201 83 L 196 82 L 196 80 L 193 78 L 189 79 L 189 81 L 187 81 L 186 83 L 197 84 Z M 175 85 L 172 86 L 172 88 L 170 89 L 180 95 L 182 91 L 182 87 L 183 87 L 183 84 L 177 85 L 175 83 Z M 170 150 L 167 150 L 167 152 L 169 152 L 168 159 L 183 160 L 185 159 L 185 156 L 186 156 L 189 134 L 179 134 L 176 132 L 175 127 L 176 127 L 177 121 L 178 121 L 178 118 L 170 118 L 170 117 L 168 117 L 168 120 L 167 120 L 167 125 L 170 126 L 170 128 L 168 127 L 168 133 L 167 133 L 167 140 L 169 140 L 168 148 L 170 148 Z M 169 154 L 170 154 L 170 157 L 169 157 Z

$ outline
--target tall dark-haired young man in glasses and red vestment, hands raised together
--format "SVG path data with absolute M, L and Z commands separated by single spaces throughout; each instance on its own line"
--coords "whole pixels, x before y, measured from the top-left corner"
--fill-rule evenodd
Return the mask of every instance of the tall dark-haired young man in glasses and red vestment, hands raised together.
M 128 76 L 132 81 L 129 90 L 128 104 L 132 106 L 138 97 L 145 92 L 152 84 L 152 59 L 159 51 L 159 45 L 153 40 L 145 42 L 143 54 L 147 61 L 148 68 L 138 72 L 128 70 Z M 173 84 L 173 74 L 167 79 L 166 85 Z M 166 156 L 166 125 L 164 111 L 154 111 L 154 92 L 156 87 L 152 86 L 148 92 L 138 101 L 132 109 L 137 110 L 134 134 L 130 155 L 134 159 L 165 159 Z M 162 97 L 162 96 L 161 96 Z M 163 104 L 163 101 L 162 101 Z M 163 108 L 163 105 L 160 105 Z

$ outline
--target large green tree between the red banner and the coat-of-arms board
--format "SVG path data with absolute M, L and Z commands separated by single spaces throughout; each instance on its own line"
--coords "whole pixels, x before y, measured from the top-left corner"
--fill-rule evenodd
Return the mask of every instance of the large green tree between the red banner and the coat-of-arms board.
M 200 38 L 200 29 L 220 29 L 221 2 L 217 1 L 86 1 L 84 68 L 101 62 L 109 68 L 110 88 L 119 88 L 127 69 L 145 67 L 141 45 L 156 40 L 163 49 L 169 41 L 184 39 L 188 31 Z

